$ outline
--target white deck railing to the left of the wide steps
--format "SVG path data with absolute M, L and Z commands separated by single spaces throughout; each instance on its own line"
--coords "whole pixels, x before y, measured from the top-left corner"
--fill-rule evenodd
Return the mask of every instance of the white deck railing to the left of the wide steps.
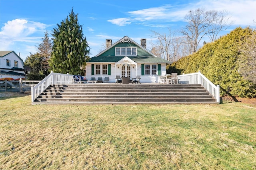
M 31 101 L 34 102 L 35 99 L 50 85 L 71 83 L 73 83 L 73 75 L 51 72 L 46 78 L 36 84 L 36 86 L 31 87 Z

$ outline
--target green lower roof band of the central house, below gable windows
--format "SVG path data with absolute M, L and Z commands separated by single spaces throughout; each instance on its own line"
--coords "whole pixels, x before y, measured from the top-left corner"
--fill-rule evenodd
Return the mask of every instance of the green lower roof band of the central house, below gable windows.
M 92 57 L 86 63 L 116 63 L 120 61 L 124 56 L 98 56 Z M 129 59 L 136 63 L 171 63 L 170 61 L 166 61 L 159 57 L 130 57 Z

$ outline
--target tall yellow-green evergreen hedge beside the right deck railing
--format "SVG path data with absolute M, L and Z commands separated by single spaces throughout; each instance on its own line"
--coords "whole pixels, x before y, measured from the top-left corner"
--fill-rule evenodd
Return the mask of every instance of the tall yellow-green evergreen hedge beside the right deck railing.
M 251 34 L 249 27 L 238 27 L 213 43 L 207 43 L 198 52 L 173 63 L 169 69 L 185 74 L 200 70 L 210 81 L 220 85 L 222 96 L 256 97 L 256 84 L 245 80 L 239 73 L 242 56 L 239 49 Z

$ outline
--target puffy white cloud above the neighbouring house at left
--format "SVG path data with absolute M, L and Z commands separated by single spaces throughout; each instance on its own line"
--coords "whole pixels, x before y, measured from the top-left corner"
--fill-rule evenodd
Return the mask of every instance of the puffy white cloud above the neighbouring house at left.
M 42 41 L 47 26 L 24 19 L 7 21 L 0 31 L 0 50 L 13 50 L 20 53 L 23 60 L 26 59 L 30 52 L 36 52 L 36 44 Z

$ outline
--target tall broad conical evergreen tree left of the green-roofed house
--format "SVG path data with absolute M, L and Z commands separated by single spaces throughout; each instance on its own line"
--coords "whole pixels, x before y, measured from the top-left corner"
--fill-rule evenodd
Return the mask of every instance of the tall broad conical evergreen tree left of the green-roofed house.
M 69 17 L 69 18 L 68 18 Z M 78 23 L 78 14 L 73 9 L 66 20 L 53 30 L 53 48 L 49 64 L 54 72 L 81 74 L 86 65 L 90 47 Z

